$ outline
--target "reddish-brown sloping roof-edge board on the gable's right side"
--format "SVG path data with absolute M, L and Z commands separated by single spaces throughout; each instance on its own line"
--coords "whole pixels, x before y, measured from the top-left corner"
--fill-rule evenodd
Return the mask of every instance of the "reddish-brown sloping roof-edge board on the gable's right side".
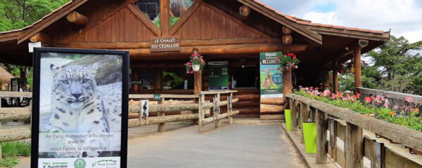
M 239 1 L 240 3 L 243 3 L 245 6 L 248 6 L 249 8 L 256 10 L 259 13 L 262 13 L 262 15 L 265 15 L 268 18 L 271 18 L 272 20 L 279 22 L 281 25 L 284 25 L 290 29 L 293 29 L 299 34 L 302 34 L 303 36 L 306 36 L 307 38 L 311 39 L 312 41 L 322 44 L 322 36 L 319 34 L 316 34 L 314 31 L 311 31 L 307 27 L 303 25 L 299 25 L 295 22 L 292 22 L 284 18 L 283 16 L 275 13 L 273 10 L 269 10 L 269 8 L 265 8 L 264 6 L 260 5 L 259 3 L 255 1 L 252 1 L 252 0 L 237 0 L 237 1 Z

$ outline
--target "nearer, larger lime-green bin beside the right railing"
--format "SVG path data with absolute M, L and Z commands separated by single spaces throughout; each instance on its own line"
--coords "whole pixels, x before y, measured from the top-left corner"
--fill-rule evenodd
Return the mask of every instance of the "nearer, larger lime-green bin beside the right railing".
M 305 139 L 306 153 L 316 153 L 316 123 L 302 123 L 303 139 Z

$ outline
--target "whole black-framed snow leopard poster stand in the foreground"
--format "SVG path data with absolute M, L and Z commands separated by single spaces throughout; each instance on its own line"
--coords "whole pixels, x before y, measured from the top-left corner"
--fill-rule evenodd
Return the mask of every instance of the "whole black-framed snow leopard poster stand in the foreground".
M 36 48 L 31 167 L 126 167 L 129 53 Z

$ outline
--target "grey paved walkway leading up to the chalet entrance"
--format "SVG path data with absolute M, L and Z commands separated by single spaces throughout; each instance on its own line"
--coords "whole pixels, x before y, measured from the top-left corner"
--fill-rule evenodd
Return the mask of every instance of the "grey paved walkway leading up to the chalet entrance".
M 175 130 L 152 133 L 156 125 L 129 130 L 127 167 L 306 167 L 279 125 L 223 124 L 215 130 L 209 124 L 204 133 L 196 125 L 168 127 Z

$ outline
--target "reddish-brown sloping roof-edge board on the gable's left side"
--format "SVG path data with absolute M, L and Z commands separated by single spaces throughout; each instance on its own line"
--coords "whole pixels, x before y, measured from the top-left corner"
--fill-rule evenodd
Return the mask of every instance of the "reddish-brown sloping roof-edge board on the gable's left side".
M 24 31 L 20 36 L 18 37 L 18 44 L 22 43 L 23 41 L 26 41 L 28 38 L 31 38 L 35 34 L 37 34 L 42 29 L 48 27 L 49 25 L 53 24 L 53 22 L 56 22 L 60 18 L 63 18 L 65 15 L 68 15 L 72 10 L 75 10 L 77 7 L 81 6 L 88 0 L 79 0 L 79 1 L 72 1 L 62 8 L 60 10 L 56 10 L 56 12 L 51 13 L 50 15 L 47 15 L 46 18 L 41 18 L 39 22 L 35 22 L 32 27 Z

